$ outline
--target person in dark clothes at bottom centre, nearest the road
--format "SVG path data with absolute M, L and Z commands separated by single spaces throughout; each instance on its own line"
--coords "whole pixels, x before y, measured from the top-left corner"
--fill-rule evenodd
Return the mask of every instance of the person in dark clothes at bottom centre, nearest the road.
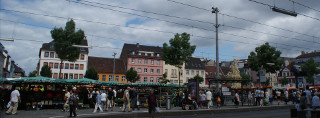
M 157 106 L 157 97 L 154 95 L 154 90 L 150 90 L 150 94 L 147 97 L 149 114 L 151 114 L 151 118 L 154 118 L 156 106 Z

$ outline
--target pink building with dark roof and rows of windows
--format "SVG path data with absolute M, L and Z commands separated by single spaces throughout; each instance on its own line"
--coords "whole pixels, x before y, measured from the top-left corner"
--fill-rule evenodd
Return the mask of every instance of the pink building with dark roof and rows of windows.
M 120 58 L 124 60 L 127 70 L 133 68 L 138 72 L 141 82 L 159 82 L 162 77 L 163 61 L 161 47 L 137 44 L 124 44 Z

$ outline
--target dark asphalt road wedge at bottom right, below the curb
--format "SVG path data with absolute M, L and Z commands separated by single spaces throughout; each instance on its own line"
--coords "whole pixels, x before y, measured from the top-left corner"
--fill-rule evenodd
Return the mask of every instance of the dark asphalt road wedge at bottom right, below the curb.
M 290 109 L 203 115 L 196 114 L 186 116 L 166 116 L 160 118 L 290 118 Z

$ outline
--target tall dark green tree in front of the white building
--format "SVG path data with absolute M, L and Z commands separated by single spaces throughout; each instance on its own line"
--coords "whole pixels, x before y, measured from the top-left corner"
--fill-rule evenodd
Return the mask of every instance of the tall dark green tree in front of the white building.
M 66 23 L 65 28 L 54 28 L 51 30 L 51 37 L 54 42 L 54 50 L 58 54 L 61 63 L 63 61 L 75 62 L 79 58 L 80 50 L 72 45 L 80 45 L 85 38 L 84 31 L 78 30 L 76 32 L 76 24 L 71 19 Z M 59 77 L 61 74 L 61 68 Z

